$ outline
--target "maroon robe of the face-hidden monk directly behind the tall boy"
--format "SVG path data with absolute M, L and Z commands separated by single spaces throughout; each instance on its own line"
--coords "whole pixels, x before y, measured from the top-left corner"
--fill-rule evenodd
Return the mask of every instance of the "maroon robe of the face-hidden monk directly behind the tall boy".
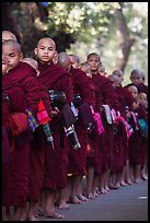
M 71 67 L 70 73 L 72 73 L 73 79 L 73 94 L 80 94 L 83 103 L 90 102 L 90 89 L 89 89 L 89 79 L 86 74 L 80 70 Z M 85 115 L 85 114 L 84 114 Z M 69 164 L 68 164 L 68 174 L 72 175 L 85 175 L 85 162 L 86 162 L 86 144 L 88 144 L 88 134 L 86 126 L 82 122 L 79 117 L 74 124 L 76 132 L 81 144 L 81 148 L 73 150 L 70 145 L 69 150 Z

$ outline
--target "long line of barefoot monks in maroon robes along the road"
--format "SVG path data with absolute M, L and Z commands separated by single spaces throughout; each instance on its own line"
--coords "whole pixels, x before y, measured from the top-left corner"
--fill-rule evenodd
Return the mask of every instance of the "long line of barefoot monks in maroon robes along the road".
M 148 179 L 145 73 L 124 86 L 99 54 L 81 63 L 47 36 L 34 55 L 2 31 L 2 221 L 61 219 L 59 209 Z

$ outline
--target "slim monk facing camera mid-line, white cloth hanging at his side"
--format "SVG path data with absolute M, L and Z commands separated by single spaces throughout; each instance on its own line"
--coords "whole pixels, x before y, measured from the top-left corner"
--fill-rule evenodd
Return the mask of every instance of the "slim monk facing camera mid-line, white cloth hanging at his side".
M 117 107 L 117 98 L 112 85 L 112 82 L 99 73 L 99 67 L 101 64 L 101 57 L 96 52 L 88 55 L 86 62 L 91 66 L 92 79 L 96 87 L 96 106 L 95 110 L 100 111 L 103 116 L 104 133 L 101 136 L 100 150 L 103 155 L 103 166 L 101 176 L 101 192 L 106 192 L 108 189 L 108 179 L 111 173 L 112 151 L 114 146 L 114 132 L 112 127 L 112 120 L 105 119 L 103 105 L 108 107 Z

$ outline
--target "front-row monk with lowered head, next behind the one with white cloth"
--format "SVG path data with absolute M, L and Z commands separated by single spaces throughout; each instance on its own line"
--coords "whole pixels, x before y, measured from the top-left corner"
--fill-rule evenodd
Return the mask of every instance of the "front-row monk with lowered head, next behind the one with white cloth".
M 118 119 L 118 113 L 120 116 L 126 119 L 126 103 L 124 97 L 124 92 L 120 89 L 119 78 L 115 74 L 111 74 L 107 77 L 112 80 L 116 96 L 118 98 L 118 109 L 114 114 L 114 149 L 113 149 L 113 164 L 112 164 L 112 174 L 109 180 L 109 188 L 117 189 L 120 186 L 127 185 L 127 152 L 128 152 L 128 138 L 126 134 L 126 128 L 124 122 Z M 116 116 L 116 117 L 115 117 Z M 129 176 L 128 176 L 129 180 Z M 126 183 L 125 183 L 126 181 Z M 128 183 L 129 184 L 129 183 Z

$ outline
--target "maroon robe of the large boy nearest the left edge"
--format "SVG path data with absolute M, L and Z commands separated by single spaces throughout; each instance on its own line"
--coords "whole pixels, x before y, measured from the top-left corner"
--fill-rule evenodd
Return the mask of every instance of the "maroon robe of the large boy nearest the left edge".
M 36 71 L 30 64 L 20 62 L 16 68 L 9 71 L 5 77 L 9 81 L 20 83 L 25 93 L 26 106 L 36 116 L 41 98 L 48 97 L 44 86 L 36 78 Z M 47 110 L 49 109 L 46 105 Z M 48 110 L 49 111 L 49 110 Z M 34 138 L 33 138 L 34 137 Z M 42 130 L 33 133 L 28 151 L 28 201 L 38 201 L 44 177 L 44 144 Z M 37 141 L 38 140 L 38 141 Z M 38 172 L 38 174 L 37 174 Z

